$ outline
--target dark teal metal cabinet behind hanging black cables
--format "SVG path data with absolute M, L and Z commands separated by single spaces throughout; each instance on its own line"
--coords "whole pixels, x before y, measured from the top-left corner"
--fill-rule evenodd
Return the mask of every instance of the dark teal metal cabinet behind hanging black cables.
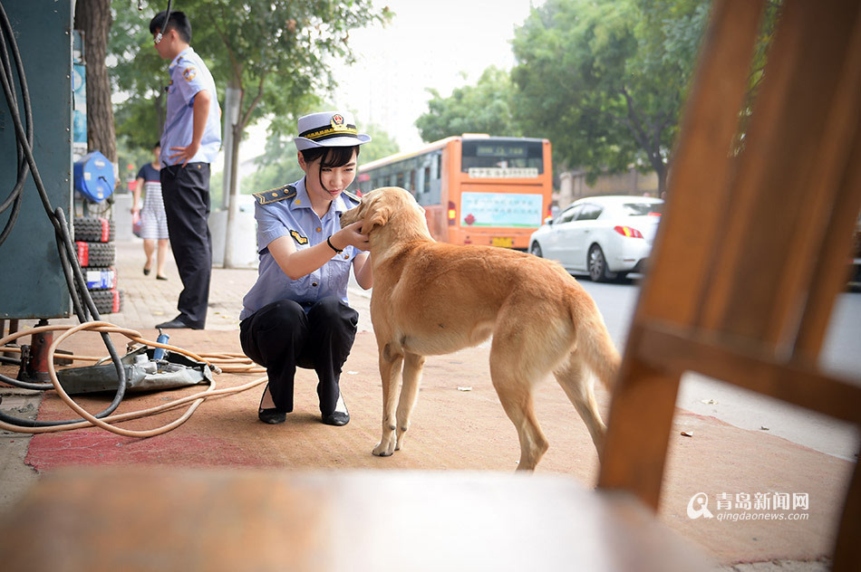
M 33 110 L 33 151 L 51 207 L 63 208 L 72 233 L 72 0 L 0 0 L 15 32 Z M 8 38 L 6 49 L 11 50 Z M 13 64 L 14 65 L 14 64 Z M 15 72 L 15 106 L 24 103 Z M 18 146 L 9 101 L 0 90 L 0 204 L 15 187 Z M 0 214 L 0 232 L 12 208 Z M 27 176 L 15 226 L 0 244 L 0 319 L 65 318 L 69 295 L 54 230 L 33 175 Z

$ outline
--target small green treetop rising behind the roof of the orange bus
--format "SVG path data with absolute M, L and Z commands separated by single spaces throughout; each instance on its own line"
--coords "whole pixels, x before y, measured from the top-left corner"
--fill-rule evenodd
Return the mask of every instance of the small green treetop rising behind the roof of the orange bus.
M 522 133 L 514 115 L 512 83 L 508 71 L 489 67 L 475 86 L 464 86 L 440 96 L 429 89 L 428 112 L 416 119 L 416 127 L 425 141 L 462 133 L 517 137 Z

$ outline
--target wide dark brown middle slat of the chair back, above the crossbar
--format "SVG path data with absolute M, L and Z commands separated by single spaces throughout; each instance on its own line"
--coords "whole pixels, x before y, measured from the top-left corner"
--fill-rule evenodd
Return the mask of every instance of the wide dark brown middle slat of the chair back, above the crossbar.
M 715 262 L 707 328 L 776 347 L 796 337 L 813 263 L 799 259 L 798 248 L 817 248 L 831 207 L 833 192 L 810 189 L 856 11 L 850 0 L 784 7 L 732 185 L 733 216 Z

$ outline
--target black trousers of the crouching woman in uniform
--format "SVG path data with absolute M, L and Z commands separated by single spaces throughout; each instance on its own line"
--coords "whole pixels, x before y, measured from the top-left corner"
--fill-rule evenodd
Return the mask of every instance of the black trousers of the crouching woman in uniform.
M 325 416 L 338 404 L 341 367 L 358 323 L 359 312 L 335 296 L 318 301 L 307 314 L 293 300 L 278 300 L 240 322 L 239 341 L 248 358 L 266 367 L 272 400 L 287 413 L 293 411 L 296 367 L 314 369 Z

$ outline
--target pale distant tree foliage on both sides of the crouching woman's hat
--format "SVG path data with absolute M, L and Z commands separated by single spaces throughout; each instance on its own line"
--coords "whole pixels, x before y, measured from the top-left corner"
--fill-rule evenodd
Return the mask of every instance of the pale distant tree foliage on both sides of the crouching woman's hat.
M 382 157 L 397 153 L 397 142 L 387 132 L 376 125 L 369 125 L 363 132 L 371 136 L 370 143 L 362 146 L 359 165 L 370 163 Z M 271 137 L 266 141 L 266 153 L 256 160 L 259 168 L 253 175 L 242 179 L 242 193 L 256 193 L 268 188 L 293 183 L 304 173 L 296 161 L 296 148 L 292 140 Z

